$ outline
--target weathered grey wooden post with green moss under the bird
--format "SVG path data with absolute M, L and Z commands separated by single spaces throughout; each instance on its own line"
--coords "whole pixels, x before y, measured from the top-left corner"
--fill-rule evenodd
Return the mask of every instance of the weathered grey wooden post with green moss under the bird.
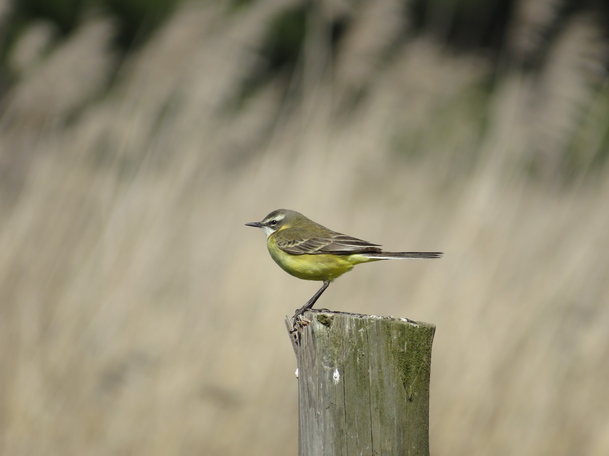
M 393 317 L 305 314 L 298 362 L 299 456 L 429 456 L 435 326 Z M 288 329 L 292 320 L 286 319 Z

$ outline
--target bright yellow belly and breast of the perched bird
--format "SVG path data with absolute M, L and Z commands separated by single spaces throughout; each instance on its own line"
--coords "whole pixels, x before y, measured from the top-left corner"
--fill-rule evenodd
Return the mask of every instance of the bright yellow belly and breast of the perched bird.
M 273 242 L 273 237 L 267 243 L 270 256 L 279 264 L 281 269 L 294 277 L 305 280 L 333 281 L 345 272 L 351 271 L 353 266 L 368 261 L 377 261 L 376 258 L 367 258 L 362 255 L 290 255 L 279 249 Z

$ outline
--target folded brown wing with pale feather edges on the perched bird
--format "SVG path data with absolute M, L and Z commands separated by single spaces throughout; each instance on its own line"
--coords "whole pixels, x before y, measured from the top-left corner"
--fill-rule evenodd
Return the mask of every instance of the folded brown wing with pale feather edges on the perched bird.
M 364 254 L 381 252 L 378 244 L 362 241 L 341 233 L 328 233 L 328 235 L 308 237 L 299 233 L 298 237 L 282 233 L 277 237 L 276 244 L 284 252 L 292 255 L 303 254 Z

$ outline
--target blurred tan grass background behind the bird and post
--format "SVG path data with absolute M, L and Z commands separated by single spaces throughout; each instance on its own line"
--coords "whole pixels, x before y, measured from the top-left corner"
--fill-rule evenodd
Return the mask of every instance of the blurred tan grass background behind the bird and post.
M 0 1 L 0 453 L 297 452 L 244 227 L 389 250 L 322 305 L 435 323 L 434 455 L 609 453 L 603 1 Z

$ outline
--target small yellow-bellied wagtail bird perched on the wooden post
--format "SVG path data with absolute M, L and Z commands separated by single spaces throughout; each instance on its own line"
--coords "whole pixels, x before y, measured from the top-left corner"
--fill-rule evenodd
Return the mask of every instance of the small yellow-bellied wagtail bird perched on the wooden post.
M 379 244 L 337 233 L 289 209 L 273 210 L 261 222 L 270 256 L 294 277 L 323 281 L 323 286 L 296 311 L 296 319 L 312 309 L 330 282 L 359 263 L 402 258 L 440 258 L 443 252 L 383 252 Z

